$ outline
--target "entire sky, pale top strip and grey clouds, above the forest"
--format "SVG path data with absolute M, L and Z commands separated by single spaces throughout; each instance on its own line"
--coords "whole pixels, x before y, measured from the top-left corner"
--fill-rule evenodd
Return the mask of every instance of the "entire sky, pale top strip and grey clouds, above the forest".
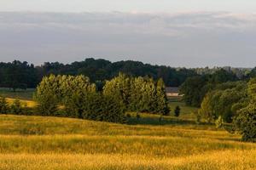
M 0 0 L 0 61 L 256 66 L 255 0 Z

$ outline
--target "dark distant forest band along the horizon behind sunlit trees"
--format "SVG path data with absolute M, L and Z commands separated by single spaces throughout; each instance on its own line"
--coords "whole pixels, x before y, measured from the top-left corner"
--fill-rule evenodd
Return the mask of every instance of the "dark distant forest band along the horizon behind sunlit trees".
M 15 60 L 9 63 L 0 63 L 0 87 L 2 88 L 36 88 L 44 76 L 54 75 L 84 75 L 90 78 L 91 82 L 102 86 L 106 80 L 119 75 L 119 72 L 133 77 L 152 77 L 154 80 L 162 78 L 167 87 L 178 87 L 188 77 L 197 75 L 209 75 L 223 68 L 172 68 L 165 65 L 149 65 L 139 61 L 118 61 L 110 62 L 106 59 L 84 59 L 71 64 L 61 64 L 59 62 L 44 65 L 32 65 L 28 62 Z M 255 76 L 256 70 L 224 68 L 225 71 L 235 74 L 237 78 Z

